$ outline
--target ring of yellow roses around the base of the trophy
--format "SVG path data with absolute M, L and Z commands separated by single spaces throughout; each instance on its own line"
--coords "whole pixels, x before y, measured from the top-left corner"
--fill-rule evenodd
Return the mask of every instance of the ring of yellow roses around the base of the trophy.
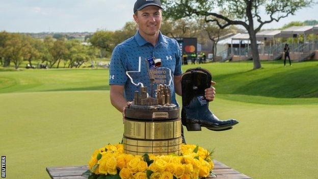
M 198 179 L 215 175 L 211 151 L 182 144 L 180 153 L 179 156 L 133 156 L 123 152 L 122 144 L 108 144 L 94 151 L 89 170 L 83 176 L 89 179 Z

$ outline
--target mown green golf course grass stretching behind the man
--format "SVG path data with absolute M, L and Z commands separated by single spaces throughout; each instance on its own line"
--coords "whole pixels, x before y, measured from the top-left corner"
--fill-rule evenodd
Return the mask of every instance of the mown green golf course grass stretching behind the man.
M 318 61 L 262 62 L 259 70 L 252 62 L 200 66 L 217 82 L 210 109 L 240 123 L 186 132 L 188 143 L 215 148 L 215 159 L 252 178 L 318 175 Z M 108 78 L 108 69 L 0 69 L 7 178 L 49 178 L 45 167 L 86 165 L 96 148 L 120 142 L 122 116 L 110 104 Z

